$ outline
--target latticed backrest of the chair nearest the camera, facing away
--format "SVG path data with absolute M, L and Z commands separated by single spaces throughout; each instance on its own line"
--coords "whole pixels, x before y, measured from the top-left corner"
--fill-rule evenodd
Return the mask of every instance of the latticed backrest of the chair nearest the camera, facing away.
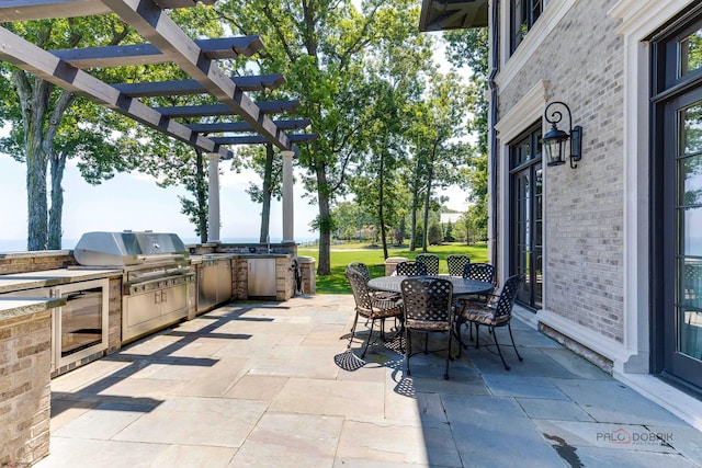
M 450 329 L 453 323 L 453 284 L 437 277 L 405 278 L 400 284 L 406 326 Z M 432 322 L 432 323 L 428 323 Z

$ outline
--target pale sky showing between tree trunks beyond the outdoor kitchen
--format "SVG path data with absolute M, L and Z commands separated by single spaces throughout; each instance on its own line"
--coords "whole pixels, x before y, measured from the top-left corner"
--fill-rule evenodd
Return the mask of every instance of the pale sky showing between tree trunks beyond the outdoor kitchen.
M 229 163 L 220 164 L 220 232 L 223 241 L 259 239 L 261 207 L 245 192 L 249 181 L 260 183 L 253 172 L 237 174 Z M 7 155 L 0 155 L 0 251 L 26 249 L 26 168 Z M 299 178 L 297 178 L 299 180 Z M 64 176 L 64 249 L 72 249 L 83 232 L 152 230 L 176 232 L 186 243 L 196 242 L 194 227 L 180 213 L 179 195 L 188 195 L 181 187 L 161 189 L 155 180 L 140 173 L 123 173 L 90 185 L 83 181 L 75 164 L 68 163 Z M 317 205 L 303 198 L 302 184 L 294 187 L 294 236 L 301 243 L 315 240 L 318 233 L 309 228 L 317 215 Z M 465 194 L 453 189 L 445 192 L 449 206 L 465 210 Z M 280 242 L 282 231 L 282 203 L 271 204 L 271 242 Z

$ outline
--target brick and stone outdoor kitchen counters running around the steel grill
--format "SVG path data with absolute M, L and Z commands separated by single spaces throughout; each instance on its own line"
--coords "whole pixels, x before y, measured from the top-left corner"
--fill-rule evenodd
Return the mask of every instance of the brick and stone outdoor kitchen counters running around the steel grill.
M 50 378 L 122 347 L 124 297 L 147 294 L 154 301 L 165 298 L 168 303 L 168 289 L 180 287 L 176 283 L 188 278 L 188 307 L 176 320 L 193 319 L 197 286 L 191 279 L 207 258 L 226 259 L 231 266 L 231 297 L 222 297 L 223 303 L 248 299 L 249 260 L 273 261 L 272 300 L 287 300 L 299 289 L 315 293 L 314 259 L 297 258 L 295 246 L 269 250 L 268 246 L 202 244 L 189 246 L 188 253 L 190 249 L 193 254 L 185 271 L 183 259 L 176 258 L 180 255 L 173 261 L 151 255 L 145 259 L 147 265 L 100 267 L 80 265 L 76 252 L 68 250 L 0 252 L 0 353 L 8 356 L 0 362 L 0 465 L 30 465 L 48 454 Z M 118 262 L 113 258 L 106 263 Z M 163 269 L 166 275 L 161 275 Z M 138 277 L 129 276 L 134 273 Z M 154 288 L 160 288 L 159 294 Z M 138 334 L 155 332 L 165 323 Z

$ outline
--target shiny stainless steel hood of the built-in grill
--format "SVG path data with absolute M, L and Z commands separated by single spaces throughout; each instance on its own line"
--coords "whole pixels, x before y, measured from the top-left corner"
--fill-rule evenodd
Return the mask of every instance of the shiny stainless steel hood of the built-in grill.
M 86 232 L 73 249 L 84 266 L 140 265 L 148 261 L 188 259 L 190 252 L 174 233 L 151 231 Z

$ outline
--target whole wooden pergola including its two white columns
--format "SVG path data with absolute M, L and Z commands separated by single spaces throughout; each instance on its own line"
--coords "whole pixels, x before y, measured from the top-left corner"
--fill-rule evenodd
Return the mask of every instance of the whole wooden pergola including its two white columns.
M 213 4 L 214 0 L 201 0 Z M 251 100 L 245 92 L 273 90 L 281 75 L 229 77 L 218 59 L 250 57 L 263 48 L 258 36 L 191 39 L 165 12 L 192 8 L 197 0 L 2 0 L 0 23 L 115 13 L 144 38 L 143 44 L 45 50 L 0 26 L 0 59 L 60 88 L 118 112 L 210 155 L 210 241 L 219 241 L 218 164 L 230 159 L 229 145 L 271 144 L 283 156 L 283 242 L 294 242 L 292 160 L 295 142 L 315 134 L 307 119 L 279 119 L 298 101 Z M 110 84 L 90 69 L 128 65 L 177 65 L 191 79 Z M 216 104 L 155 107 L 140 98 L 208 94 Z M 217 123 L 181 123 L 182 118 L 218 117 Z M 212 121 L 212 118 L 211 118 Z M 217 134 L 220 136 L 212 136 Z M 231 135 L 236 134 L 236 135 Z

